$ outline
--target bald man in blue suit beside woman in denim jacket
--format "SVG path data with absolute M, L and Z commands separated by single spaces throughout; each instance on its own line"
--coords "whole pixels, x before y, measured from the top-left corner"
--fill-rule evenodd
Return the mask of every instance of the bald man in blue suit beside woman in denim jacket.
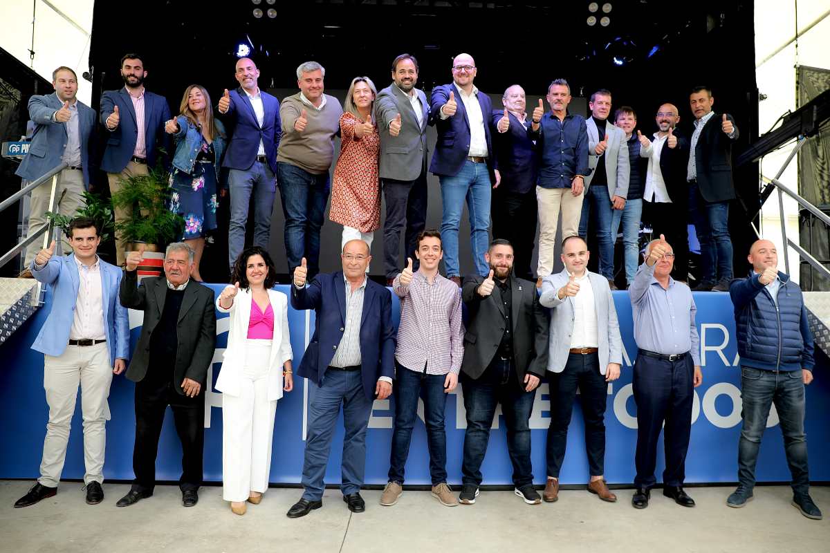
M 232 128 L 222 167 L 230 168 L 231 224 L 227 238 L 228 264 L 233 267 L 245 247 L 248 205 L 254 196 L 254 245 L 268 247 L 271 211 L 276 195 L 276 148 L 282 124 L 280 101 L 257 85 L 260 72 L 250 58 L 237 61 L 234 77 L 239 88 L 219 99 L 219 113 Z M 224 193 L 224 191 L 222 191 Z

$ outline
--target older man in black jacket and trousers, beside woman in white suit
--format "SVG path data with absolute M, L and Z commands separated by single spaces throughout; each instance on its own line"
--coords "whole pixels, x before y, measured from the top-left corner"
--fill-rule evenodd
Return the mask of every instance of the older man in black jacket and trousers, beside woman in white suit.
M 205 401 L 202 390 L 216 349 L 213 292 L 190 280 L 193 250 L 183 242 L 168 245 L 164 276 L 145 278 L 136 287 L 143 250 L 130 252 L 121 279 L 125 308 L 144 311 L 141 337 L 127 369 L 135 384 L 133 486 L 116 507 L 153 495 L 159 434 L 167 406 L 173 410 L 182 441 L 182 504 L 193 507 L 202 485 Z

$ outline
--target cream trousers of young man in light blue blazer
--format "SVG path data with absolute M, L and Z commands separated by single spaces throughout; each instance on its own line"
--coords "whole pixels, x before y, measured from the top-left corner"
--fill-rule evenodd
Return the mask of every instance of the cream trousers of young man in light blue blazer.
M 84 424 L 84 483 L 104 481 L 105 424 L 110 420 L 110 384 L 112 366 L 106 343 L 95 346 L 66 346 L 58 357 L 45 355 L 43 387 L 49 405 L 49 422 L 43 440 L 41 478 L 43 486 L 55 488 L 61 480 L 66 460 L 66 444 L 78 384 L 81 384 L 81 415 Z

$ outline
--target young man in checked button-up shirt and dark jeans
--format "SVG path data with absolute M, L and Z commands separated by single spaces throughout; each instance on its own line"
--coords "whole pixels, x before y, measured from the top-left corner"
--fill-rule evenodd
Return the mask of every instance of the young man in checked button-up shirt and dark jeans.
M 442 505 L 455 507 L 458 500 L 447 486 L 444 406 L 447 394 L 458 384 L 464 355 L 461 293 L 457 284 L 438 274 L 438 263 L 443 257 L 440 232 L 423 230 L 417 237 L 415 255 L 420 261 L 419 269 L 413 273 L 413 260 L 407 258 L 407 268 L 392 284 L 393 292 L 401 300 L 401 322 L 395 350 L 395 429 L 389 483 L 383 489 L 380 504 L 392 506 L 403 494 L 403 468 L 420 396 L 427 424 L 432 497 Z

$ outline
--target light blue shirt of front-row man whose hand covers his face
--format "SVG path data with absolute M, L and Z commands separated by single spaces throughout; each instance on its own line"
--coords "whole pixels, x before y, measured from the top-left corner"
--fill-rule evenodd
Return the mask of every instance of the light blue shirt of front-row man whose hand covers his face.
M 697 306 L 686 284 L 669 277 L 664 289 L 654 277 L 657 264 L 640 265 L 629 290 L 634 317 L 634 341 L 649 352 L 691 354 L 701 364 L 701 339 L 697 335 Z

